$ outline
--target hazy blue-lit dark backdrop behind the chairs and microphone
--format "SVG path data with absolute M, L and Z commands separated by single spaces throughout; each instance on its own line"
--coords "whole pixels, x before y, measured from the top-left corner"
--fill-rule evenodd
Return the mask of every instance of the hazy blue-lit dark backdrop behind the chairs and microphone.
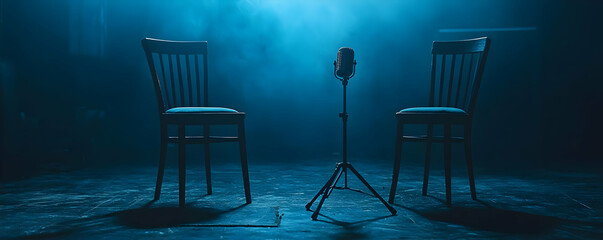
M 247 113 L 253 164 L 340 158 L 332 62 L 342 46 L 358 61 L 349 155 L 391 162 L 394 113 L 427 104 L 432 41 L 488 36 L 476 166 L 601 167 L 596 1 L 0 0 L 0 8 L 3 179 L 157 162 L 144 37 L 208 41 L 210 101 Z M 424 146 L 408 146 L 405 159 L 422 161 Z M 236 145 L 212 149 L 237 158 Z

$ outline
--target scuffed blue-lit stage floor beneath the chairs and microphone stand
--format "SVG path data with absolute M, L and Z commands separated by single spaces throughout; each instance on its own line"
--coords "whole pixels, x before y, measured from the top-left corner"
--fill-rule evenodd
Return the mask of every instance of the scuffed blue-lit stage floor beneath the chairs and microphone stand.
M 175 161 L 173 161 L 175 162 Z M 387 199 L 392 164 L 353 162 Z M 402 166 L 397 216 L 368 194 L 335 190 L 317 221 L 305 204 L 334 162 L 250 162 L 253 203 L 245 205 L 240 165 L 212 165 L 206 195 L 201 164 L 189 164 L 187 207 L 179 209 L 177 170 L 168 164 L 161 199 L 152 202 L 156 166 L 45 174 L 1 183 L 0 238 L 60 239 L 479 239 L 603 236 L 603 175 L 596 171 L 497 172 L 477 168 L 471 200 L 462 165 L 452 172 L 452 207 L 434 164 L 428 196 L 420 166 Z M 340 181 L 341 182 L 341 181 Z M 352 175 L 349 186 L 368 192 Z M 340 184 L 341 185 L 341 184 Z M 313 206 L 315 208 L 316 204 Z

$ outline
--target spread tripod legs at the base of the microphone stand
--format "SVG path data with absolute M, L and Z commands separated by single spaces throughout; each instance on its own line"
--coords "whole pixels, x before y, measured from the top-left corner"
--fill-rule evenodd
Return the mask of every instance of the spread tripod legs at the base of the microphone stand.
M 377 193 L 377 191 L 375 191 L 375 189 L 373 189 L 373 187 L 371 187 L 370 184 L 368 184 L 368 182 L 366 182 L 366 180 L 360 175 L 360 173 L 358 173 L 358 171 L 356 171 L 356 169 L 352 166 L 352 164 L 348 163 L 348 162 L 340 162 L 337 163 L 337 167 L 335 168 L 335 172 L 333 173 L 333 175 L 331 175 L 331 178 L 329 178 L 329 181 L 327 181 L 327 183 L 325 183 L 325 185 L 320 189 L 320 191 L 318 191 L 318 193 L 316 194 L 316 196 L 314 196 L 314 198 L 312 198 L 312 201 L 310 201 L 308 204 L 306 204 L 306 210 L 310 211 L 310 207 L 312 207 L 312 204 L 314 204 L 314 202 L 318 199 L 318 197 L 320 195 L 322 195 L 322 198 L 320 199 L 320 202 L 318 203 L 318 206 L 316 207 L 316 210 L 314 210 L 314 213 L 312 214 L 312 220 L 316 220 L 316 218 L 318 218 L 318 214 L 320 213 L 320 209 L 322 208 L 322 204 L 325 202 L 325 200 L 329 197 L 329 195 L 331 195 L 331 192 L 333 192 L 333 189 L 349 189 L 347 187 L 347 178 L 346 178 L 346 183 L 345 183 L 345 187 L 344 188 L 338 188 L 337 182 L 339 181 L 339 178 L 341 177 L 341 175 L 346 172 L 347 174 L 347 169 L 350 169 L 352 171 L 352 173 L 354 173 L 354 175 L 356 175 L 356 177 L 362 182 L 364 183 L 364 185 L 371 191 L 371 193 L 373 193 L 373 195 L 375 197 L 377 197 L 381 203 L 383 203 L 383 205 L 385 205 L 385 207 L 387 207 L 387 209 L 389 210 L 389 212 L 392 213 L 392 215 L 396 215 L 397 211 L 396 209 L 394 209 L 392 206 L 390 206 L 382 197 L 381 195 L 379 195 L 379 193 Z

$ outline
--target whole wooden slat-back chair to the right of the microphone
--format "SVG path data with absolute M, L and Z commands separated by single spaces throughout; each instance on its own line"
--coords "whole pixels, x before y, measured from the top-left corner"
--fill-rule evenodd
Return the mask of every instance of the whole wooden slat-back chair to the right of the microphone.
M 396 113 L 398 127 L 396 133 L 394 173 L 389 193 L 390 203 L 394 203 L 394 197 L 396 195 L 400 161 L 402 157 L 402 142 L 404 141 L 420 141 L 427 143 L 423 175 L 423 196 L 427 195 L 431 143 L 441 142 L 444 144 L 447 205 L 450 205 L 451 202 L 451 143 L 464 143 L 471 198 L 474 200 L 477 198 L 475 193 L 475 181 L 473 178 L 473 163 L 471 159 L 471 122 L 489 48 L 490 39 L 486 37 L 433 43 L 429 107 L 407 108 Z M 405 124 L 426 124 L 427 135 L 406 136 L 403 134 Z M 433 136 L 434 125 L 443 125 L 444 136 Z M 451 134 L 452 125 L 463 126 L 464 136 L 453 137 Z

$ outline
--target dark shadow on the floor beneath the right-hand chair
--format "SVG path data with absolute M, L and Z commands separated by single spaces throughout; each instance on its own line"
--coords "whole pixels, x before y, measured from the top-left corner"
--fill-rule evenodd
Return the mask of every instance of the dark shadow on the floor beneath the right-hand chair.
M 428 195 L 428 197 L 439 201 L 442 206 L 445 206 L 446 204 L 445 200 L 430 195 Z M 415 209 L 400 204 L 394 204 L 394 206 L 416 213 L 430 221 L 445 222 L 477 230 L 509 234 L 546 233 L 547 231 L 554 229 L 561 221 L 563 221 L 563 219 L 551 216 L 497 208 L 479 199 L 475 201 L 483 206 L 468 207 L 455 206 L 453 204 L 450 207 L 429 209 Z

